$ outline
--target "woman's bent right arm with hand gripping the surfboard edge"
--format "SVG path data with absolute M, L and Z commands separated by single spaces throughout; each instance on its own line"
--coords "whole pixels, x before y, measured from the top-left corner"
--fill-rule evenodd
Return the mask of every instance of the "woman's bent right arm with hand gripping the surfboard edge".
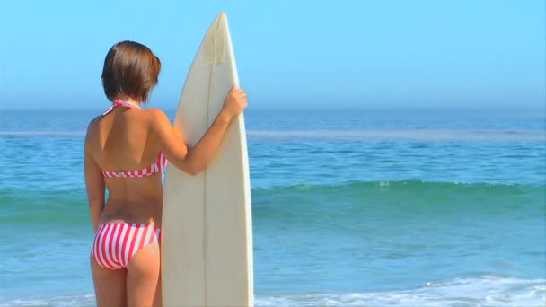
M 174 129 L 171 121 L 161 110 L 154 110 L 154 133 L 158 136 L 161 151 L 181 171 L 197 175 L 203 171 L 216 154 L 229 123 L 239 115 L 248 102 L 242 89 L 233 88 L 227 95 L 224 108 L 220 110 L 207 133 L 191 149 L 185 145 L 184 137 Z

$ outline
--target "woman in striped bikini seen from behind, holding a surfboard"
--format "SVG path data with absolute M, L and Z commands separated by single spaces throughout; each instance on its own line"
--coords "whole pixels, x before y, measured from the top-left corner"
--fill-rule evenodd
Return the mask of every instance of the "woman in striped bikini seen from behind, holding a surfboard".
M 246 94 L 233 88 L 205 136 L 189 149 L 163 111 L 140 109 L 160 69 L 159 58 L 132 41 L 114 45 L 104 61 L 102 85 L 113 104 L 90 123 L 84 150 L 98 306 L 161 306 L 165 158 L 189 174 L 203 171 L 230 121 L 247 106 Z

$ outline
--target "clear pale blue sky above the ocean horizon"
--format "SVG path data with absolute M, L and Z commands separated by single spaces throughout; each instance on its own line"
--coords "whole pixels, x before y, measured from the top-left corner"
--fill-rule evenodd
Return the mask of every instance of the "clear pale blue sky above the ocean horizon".
M 543 108 L 544 3 L 2 0 L 0 109 L 104 109 L 102 63 L 124 39 L 161 58 L 152 103 L 173 109 L 220 12 L 256 108 Z

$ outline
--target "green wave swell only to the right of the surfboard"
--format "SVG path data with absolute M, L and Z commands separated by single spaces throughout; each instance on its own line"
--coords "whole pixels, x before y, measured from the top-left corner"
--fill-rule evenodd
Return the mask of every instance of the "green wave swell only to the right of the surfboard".
M 446 215 L 546 217 L 546 186 L 419 180 L 297 185 L 252 190 L 257 223 L 330 224 L 392 223 Z M 375 216 L 375 217 L 374 217 Z

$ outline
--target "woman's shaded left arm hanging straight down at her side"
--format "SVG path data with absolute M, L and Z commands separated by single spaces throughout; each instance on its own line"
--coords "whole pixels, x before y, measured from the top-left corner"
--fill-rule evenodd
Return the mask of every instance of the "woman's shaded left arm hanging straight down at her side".
M 105 205 L 104 178 L 102 176 L 101 168 L 97 165 L 89 152 L 87 137 L 85 137 L 84 152 L 85 189 L 87 190 L 87 198 L 89 201 L 92 228 L 97 232 L 97 229 L 99 228 L 99 219 Z

